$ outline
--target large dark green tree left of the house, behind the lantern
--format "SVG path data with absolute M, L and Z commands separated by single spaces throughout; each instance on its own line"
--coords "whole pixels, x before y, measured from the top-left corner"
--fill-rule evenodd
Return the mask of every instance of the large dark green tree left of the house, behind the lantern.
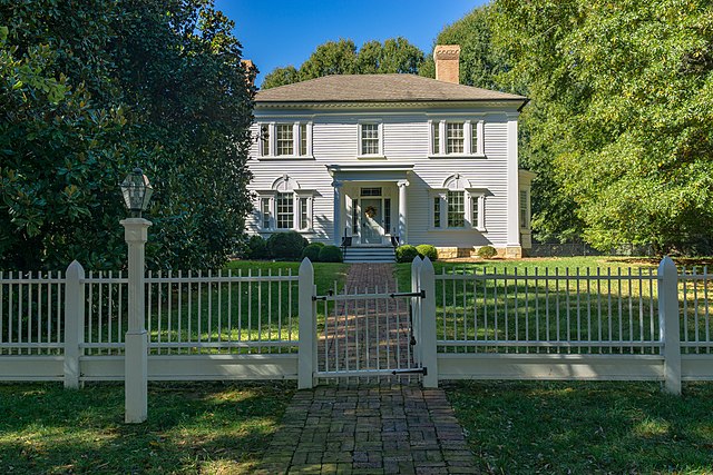
M 232 28 L 208 0 L 0 0 L 0 266 L 123 267 L 136 165 L 156 188 L 150 265 L 224 261 L 254 92 Z

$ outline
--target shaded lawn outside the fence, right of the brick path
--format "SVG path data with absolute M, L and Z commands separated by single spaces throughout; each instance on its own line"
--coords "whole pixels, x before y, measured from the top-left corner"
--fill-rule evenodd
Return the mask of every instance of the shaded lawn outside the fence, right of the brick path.
M 484 473 L 713 473 L 713 383 L 446 385 Z

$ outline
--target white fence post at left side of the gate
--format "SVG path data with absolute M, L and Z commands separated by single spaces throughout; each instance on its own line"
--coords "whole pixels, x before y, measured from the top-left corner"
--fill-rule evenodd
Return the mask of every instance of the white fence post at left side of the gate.
M 314 370 L 316 368 L 316 320 L 314 296 L 314 267 L 306 257 L 300 265 L 300 345 L 297 354 L 297 388 L 314 387 Z

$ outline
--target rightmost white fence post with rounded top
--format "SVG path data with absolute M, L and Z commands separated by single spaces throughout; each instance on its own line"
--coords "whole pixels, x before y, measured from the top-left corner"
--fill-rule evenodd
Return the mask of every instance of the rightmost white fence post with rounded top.
M 678 315 L 678 270 L 671 257 L 658 265 L 658 326 L 664 345 L 666 390 L 681 394 L 681 316 Z

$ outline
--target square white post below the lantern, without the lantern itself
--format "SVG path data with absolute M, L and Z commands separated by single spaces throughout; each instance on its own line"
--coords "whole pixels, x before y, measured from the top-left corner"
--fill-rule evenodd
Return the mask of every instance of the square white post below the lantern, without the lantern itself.
M 129 248 L 129 325 L 125 337 L 124 398 L 126 423 L 143 423 L 147 416 L 148 336 L 145 326 L 144 298 L 144 246 L 150 221 L 144 218 L 127 218 L 124 238 Z

